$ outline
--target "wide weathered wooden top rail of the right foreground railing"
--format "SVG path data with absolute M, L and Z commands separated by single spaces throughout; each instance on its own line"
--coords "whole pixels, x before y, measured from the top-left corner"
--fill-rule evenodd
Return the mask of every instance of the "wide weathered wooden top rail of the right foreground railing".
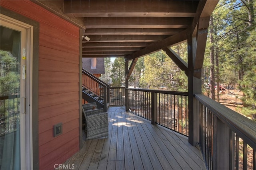
M 226 124 L 233 132 L 238 134 L 247 144 L 256 148 L 256 123 L 243 115 L 225 107 L 224 105 L 206 97 L 202 94 L 195 94 L 203 105 L 208 107 L 212 113 Z

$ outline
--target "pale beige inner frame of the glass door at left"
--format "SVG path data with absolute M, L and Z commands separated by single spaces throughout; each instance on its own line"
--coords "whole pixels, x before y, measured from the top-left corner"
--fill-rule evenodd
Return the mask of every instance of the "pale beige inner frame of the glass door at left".
M 33 26 L 15 20 L 5 15 L 1 15 L 1 26 L 17 30 L 20 36 L 20 162 L 22 169 L 31 169 L 33 162 L 32 150 L 32 107 L 31 95 L 32 91 L 30 82 L 30 68 L 33 67 Z M 25 73 L 24 73 L 25 72 Z M 25 136 L 25 138 L 23 137 Z

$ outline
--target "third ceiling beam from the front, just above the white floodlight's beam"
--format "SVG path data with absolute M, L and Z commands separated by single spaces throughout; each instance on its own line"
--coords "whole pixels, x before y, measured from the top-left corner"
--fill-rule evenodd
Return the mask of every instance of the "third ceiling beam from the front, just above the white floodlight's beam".
M 86 29 L 84 36 L 89 35 L 174 35 L 184 29 L 174 28 L 99 28 Z

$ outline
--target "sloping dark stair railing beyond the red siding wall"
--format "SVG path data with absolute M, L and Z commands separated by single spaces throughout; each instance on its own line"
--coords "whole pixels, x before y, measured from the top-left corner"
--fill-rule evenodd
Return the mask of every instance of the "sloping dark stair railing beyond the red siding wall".
M 82 88 L 99 97 L 101 103 L 109 103 L 110 86 L 92 73 L 82 68 Z

